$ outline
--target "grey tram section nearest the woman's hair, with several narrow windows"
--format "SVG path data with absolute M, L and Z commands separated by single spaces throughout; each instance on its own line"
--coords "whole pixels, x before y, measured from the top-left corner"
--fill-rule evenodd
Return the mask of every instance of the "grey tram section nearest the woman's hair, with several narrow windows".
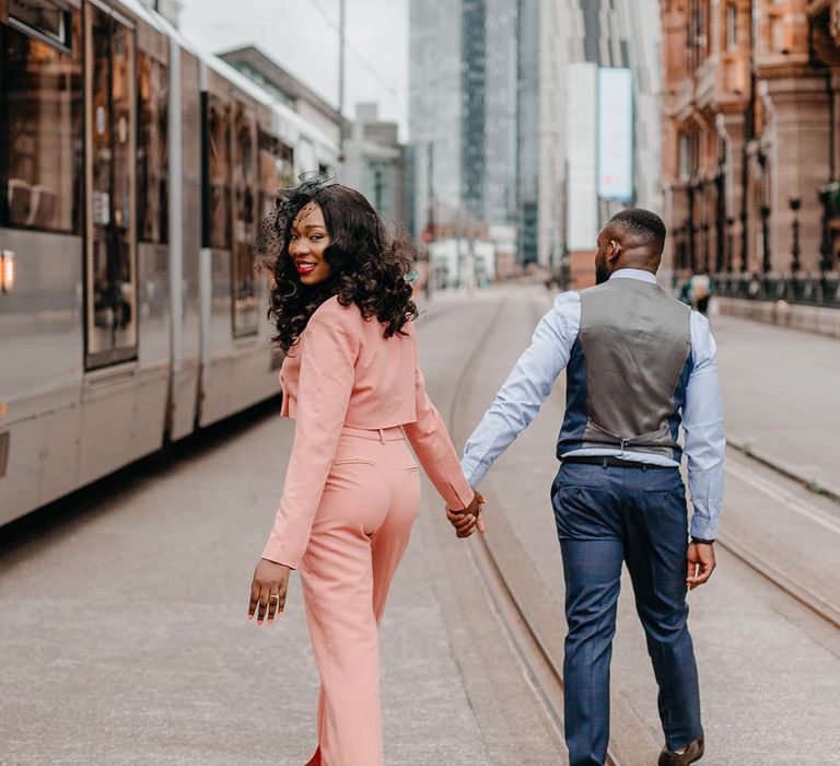
M 201 402 L 207 426 L 277 393 L 261 322 L 265 279 L 256 271 L 256 109 L 203 65 L 205 184 L 201 285 Z

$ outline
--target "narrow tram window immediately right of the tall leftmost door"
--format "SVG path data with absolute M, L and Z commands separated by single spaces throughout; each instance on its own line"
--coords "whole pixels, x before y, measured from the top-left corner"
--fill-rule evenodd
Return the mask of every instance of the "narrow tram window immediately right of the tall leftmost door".
M 137 56 L 137 233 L 141 242 L 168 241 L 167 102 L 165 65 Z

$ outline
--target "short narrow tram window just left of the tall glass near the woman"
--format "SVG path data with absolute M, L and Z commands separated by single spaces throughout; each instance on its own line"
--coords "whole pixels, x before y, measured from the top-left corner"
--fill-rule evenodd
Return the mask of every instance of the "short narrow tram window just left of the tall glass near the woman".
M 228 106 L 210 94 L 207 100 L 208 195 L 210 247 L 231 248 L 231 134 Z

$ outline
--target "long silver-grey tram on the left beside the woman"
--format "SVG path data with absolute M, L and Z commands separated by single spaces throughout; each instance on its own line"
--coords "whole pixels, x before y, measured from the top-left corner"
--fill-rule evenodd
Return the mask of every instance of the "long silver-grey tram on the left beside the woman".
M 278 392 L 253 252 L 338 148 L 135 0 L 0 0 L 0 524 Z

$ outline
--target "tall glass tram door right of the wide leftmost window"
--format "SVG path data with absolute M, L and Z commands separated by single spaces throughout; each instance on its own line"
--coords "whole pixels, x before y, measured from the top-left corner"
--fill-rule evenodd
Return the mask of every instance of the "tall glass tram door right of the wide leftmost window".
M 86 3 L 88 369 L 137 357 L 135 32 Z

